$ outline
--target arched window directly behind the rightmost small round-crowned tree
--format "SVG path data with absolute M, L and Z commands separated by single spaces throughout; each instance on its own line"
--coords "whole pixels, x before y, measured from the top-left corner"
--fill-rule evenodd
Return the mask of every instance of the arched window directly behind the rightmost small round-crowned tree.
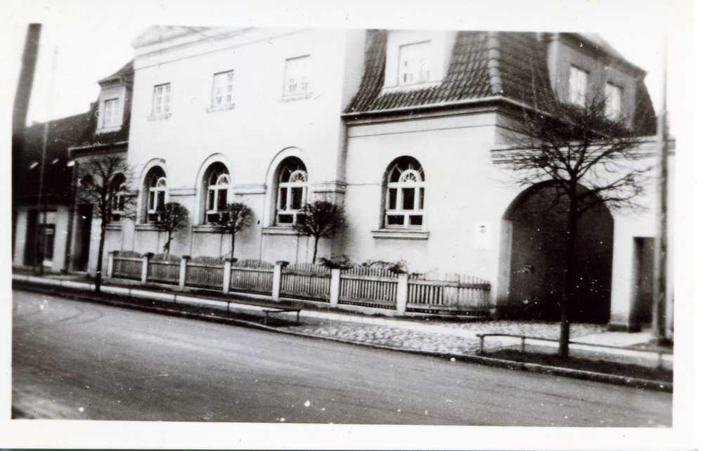
M 307 170 L 300 159 L 289 157 L 281 162 L 276 200 L 277 225 L 292 225 L 297 222 L 298 210 L 307 200 L 307 183 Z

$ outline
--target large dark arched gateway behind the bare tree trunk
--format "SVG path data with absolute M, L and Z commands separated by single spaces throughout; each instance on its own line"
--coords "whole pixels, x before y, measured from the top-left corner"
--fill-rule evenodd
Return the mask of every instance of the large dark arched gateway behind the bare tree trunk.
M 558 320 L 567 263 L 566 196 L 543 183 L 518 195 L 503 215 L 498 309 L 512 318 Z M 613 218 L 604 204 L 576 226 L 572 321 L 610 318 Z

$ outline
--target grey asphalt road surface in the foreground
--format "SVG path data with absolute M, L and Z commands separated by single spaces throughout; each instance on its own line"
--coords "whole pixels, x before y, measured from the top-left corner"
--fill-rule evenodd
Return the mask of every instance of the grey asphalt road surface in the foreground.
M 12 358 L 33 418 L 671 426 L 669 393 L 22 291 Z

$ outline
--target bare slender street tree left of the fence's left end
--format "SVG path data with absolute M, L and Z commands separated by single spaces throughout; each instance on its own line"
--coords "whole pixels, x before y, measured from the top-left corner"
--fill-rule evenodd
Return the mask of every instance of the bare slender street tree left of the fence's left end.
M 134 196 L 127 191 L 132 172 L 124 155 L 91 155 L 79 160 L 77 199 L 93 207 L 93 214 L 100 221 L 98 266 L 95 291 L 102 285 L 105 227 L 112 221 L 113 211 L 120 211 L 120 218 L 134 211 Z

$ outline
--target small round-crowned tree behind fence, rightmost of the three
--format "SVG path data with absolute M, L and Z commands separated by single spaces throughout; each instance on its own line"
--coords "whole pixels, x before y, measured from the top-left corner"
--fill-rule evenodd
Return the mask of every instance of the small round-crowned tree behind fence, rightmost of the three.
M 317 200 L 305 204 L 299 210 L 294 225 L 300 235 L 313 237 L 315 240 L 312 261 L 317 261 L 317 244 L 320 238 L 331 238 L 342 228 L 347 227 L 344 207 L 326 200 Z

